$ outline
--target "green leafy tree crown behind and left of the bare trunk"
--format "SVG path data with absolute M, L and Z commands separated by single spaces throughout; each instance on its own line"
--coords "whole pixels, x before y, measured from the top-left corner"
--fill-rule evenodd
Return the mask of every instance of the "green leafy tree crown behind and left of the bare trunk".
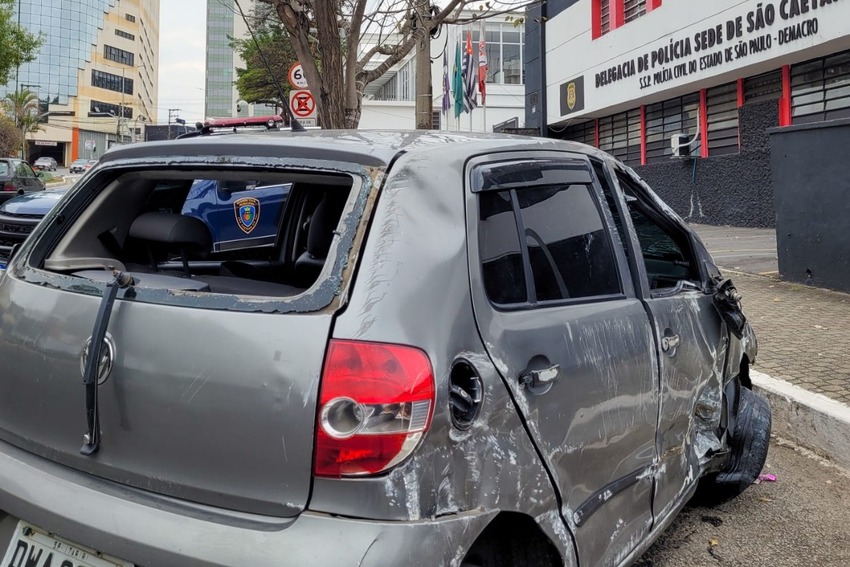
M 239 97 L 249 103 L 275 103 L 278 106 L 287 104 L 280 98 L 280 92 L 275 84 L 283 89 L 284 96 L 289 96 L 289 81 L 287 75 L 289 68 L 298 60 L 289 35 L 281 25 L 275 25 L 268 20 L 262 20 L 257 26 L 254 34 L 260 45 L 262 55 L 268 62 L 268 67 L 263 62 L 260 50 L 251 36 L 244 39 L 233 39 L 232 45 L 242 60 L 244 68 L 236 69 L 236 90 Z M 271 68 L 271 71 L 269 70 Z

